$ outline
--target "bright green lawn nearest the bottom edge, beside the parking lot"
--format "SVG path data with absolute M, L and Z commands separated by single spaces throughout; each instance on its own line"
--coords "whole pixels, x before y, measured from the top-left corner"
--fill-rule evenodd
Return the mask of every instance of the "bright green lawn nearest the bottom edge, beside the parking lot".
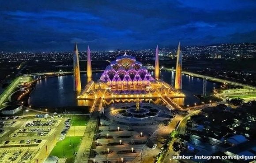
M 66 157 L 68 163 L 73 163 L 75 160 L 74 151 L 78 151 L 78 145 L 81 142 L 80 139 L 82 139 L 82 137 L 66 137 L 64 140 L 57 142 L 50 155 L 57 157 Z

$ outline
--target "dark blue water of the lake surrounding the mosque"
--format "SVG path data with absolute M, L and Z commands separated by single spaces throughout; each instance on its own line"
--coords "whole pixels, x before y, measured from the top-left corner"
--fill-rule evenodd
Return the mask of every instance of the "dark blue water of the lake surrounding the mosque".
M 93 80 L 97 81 L 102 73 L 93 74 Z M 154 75 L 154 73 L 151 73 Z M 167 83 L 174 85 L 175 72 L 163 70 L 160 78 Z M 86 74 L 81 74 L 82 88 L 86 85 Z M 193 95 L 203 93 L 203 80 L 188 75 L 182 76 L 182 92 L 186 98 L 184 104 L 193 105 L 200 100 Z M 213 87 L 219 87 L 219 83 L 207 81 L 207 92 L 210 93 Z M 73 91 L 73 75 L 66 75 L 54 78 L 46 78 L 37 82 L 36 88 L 30 95 L 29 103 L 33 106 L 74 106 L 78 105 Z

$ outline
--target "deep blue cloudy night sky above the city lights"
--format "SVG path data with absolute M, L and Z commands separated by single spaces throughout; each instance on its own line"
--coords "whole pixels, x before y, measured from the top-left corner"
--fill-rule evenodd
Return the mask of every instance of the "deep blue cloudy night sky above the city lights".
M 72 2 L 73 1 L 73 2 Z M 256 42 L 256 0 L 0 0 L 0 51 Z

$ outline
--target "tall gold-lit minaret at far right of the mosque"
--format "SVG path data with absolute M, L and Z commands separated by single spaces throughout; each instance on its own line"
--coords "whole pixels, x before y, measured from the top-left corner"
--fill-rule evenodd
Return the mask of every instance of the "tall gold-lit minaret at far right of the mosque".
M 177 62 L 176 62 L 176 74 L 175 74 L 175 89 L 182 89 L 182 55 L 181 55 L 181 45 L 179 42 L 178 50 L 177 50 Z

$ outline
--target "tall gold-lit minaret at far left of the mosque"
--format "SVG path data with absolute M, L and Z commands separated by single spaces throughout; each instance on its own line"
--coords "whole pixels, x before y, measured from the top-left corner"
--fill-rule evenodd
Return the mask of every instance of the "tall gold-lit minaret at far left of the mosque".
M 80 68 L 79 68 L 79 54 L 77 45 L 75 43 L 74 49 L 74 63 L 73 63 L 73 70 L 74 70 L 74 91 L 80 92 L 81 89 L 81 78 L 80 78 Z

